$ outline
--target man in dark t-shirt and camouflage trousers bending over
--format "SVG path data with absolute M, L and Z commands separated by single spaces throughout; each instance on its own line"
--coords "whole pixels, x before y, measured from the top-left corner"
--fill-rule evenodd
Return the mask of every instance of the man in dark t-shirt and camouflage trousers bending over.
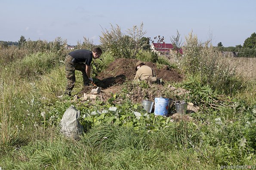
M 101 56 L 102 49 L 97 47 L 93 51 L 75 50 L 70 52 L 65 58 L 65 72 L 68 80 L 65 94 L 71 96 L 71 91 L 74 88 L 76 81 L 75 70 L 79 70 L 83 74 L 83 85 L 87 86 L 89 81 L 93 81 L 90 76 L 91 63 L 93 58 L 97 59 Z

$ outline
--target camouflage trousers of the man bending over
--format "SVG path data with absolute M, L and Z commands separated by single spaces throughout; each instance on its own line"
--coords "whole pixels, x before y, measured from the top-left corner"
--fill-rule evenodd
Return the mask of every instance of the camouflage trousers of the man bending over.
M 67 78 L 66 91 L 71 91 L 74 88 L 76 82 L 75 70 L 79 70 L 83 74 L 83 85 L 89 83 L 89 79 L 86 75 L 86 65 L 84 63 L 72 62 L 74 58 L 67 55 L 65 58 L 65 73 Z

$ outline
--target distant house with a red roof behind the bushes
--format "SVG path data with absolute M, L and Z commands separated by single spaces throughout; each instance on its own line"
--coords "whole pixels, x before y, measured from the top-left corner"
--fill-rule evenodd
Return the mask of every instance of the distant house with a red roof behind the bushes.
M 176 49 L 173 48 L 172 44 L 168 44 L 165 42 L 162 43 L 152 43 L 150 47 L 151 51 L 156 52 L 158 55 L 170 56 L 170 51 L 174 51 Z M 177 52 L 183 54 L 182 48 L 178 49 Z

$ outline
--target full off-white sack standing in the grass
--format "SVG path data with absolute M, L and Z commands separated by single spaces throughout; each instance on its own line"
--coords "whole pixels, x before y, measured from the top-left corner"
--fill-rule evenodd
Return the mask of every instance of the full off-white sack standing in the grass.
M 75 140 L 83 134 L 83 126 L 79 122 L 80 110 L 71 105 L 62 116 L 60 121 L 61 132 L 67 137 L 73 137 Z

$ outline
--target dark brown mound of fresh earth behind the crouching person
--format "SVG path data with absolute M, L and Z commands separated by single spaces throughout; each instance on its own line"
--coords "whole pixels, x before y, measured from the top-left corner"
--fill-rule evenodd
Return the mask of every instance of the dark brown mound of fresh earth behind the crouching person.
M 136 74 L 135 64 L 138 61 L 136 59 L 124 58 L 115 60 L 96 77 L 99 79 L 99 82 L 96 82 L 97 86 L 104 89 L 116 84 L 123 84 L 126 80 L 132 81 Z M 168 66 L 157 69 L 157 65 L 152 62 L 145 62 L 145 65 L 154 69 L 157 77 L 162 78 L 163 81 L 182 81 L 182 76 L 175 69 L 170 69 Z

